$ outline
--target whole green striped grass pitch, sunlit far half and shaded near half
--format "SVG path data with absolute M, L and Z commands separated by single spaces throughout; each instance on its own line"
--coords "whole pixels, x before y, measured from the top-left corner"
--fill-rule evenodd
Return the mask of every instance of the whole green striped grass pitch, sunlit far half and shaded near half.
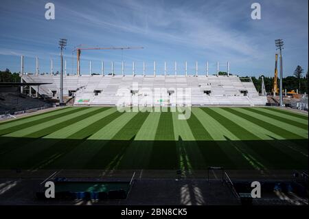
M 67 107 L 0 123 L 0 169 L 308 169 L 308 116 L 278 108 Z

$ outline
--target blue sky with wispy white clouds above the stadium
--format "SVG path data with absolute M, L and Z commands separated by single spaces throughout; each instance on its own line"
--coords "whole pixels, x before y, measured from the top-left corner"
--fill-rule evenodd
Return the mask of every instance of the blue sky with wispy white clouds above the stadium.
M 146 62 L 146 73 L 152 73 L 153 61 L 163 73 L 164 61 L 168 72 L 174 73 L 177 61 L 179 74 L 184 73 L 184 62 L 189 73 L 226 71 L 240 76 L 273 76 L 275 39 L 283 38 L 284 76 L 293 74 L 297 65 L 308 69 L 308 0 L 272 1 L 183 1 L 183 0 L 127 0 L 127 1 L 50 1 L 56 8 L 56 19 L 45 19 L 45 3 L 49 1 L 1 0 L 0 4 L 0 69 L 20 70 L 20 56 L 25 55 L 25 71 L 35 71 L 35 57 L 40 60 L 40 72 L 49 72 L 54 60 L 54 71 L 60 67 L 58 39 L 67 38 L 65 50 L 67 71 L 76 72 L 73 47 L 142 46 L 136 50 L 82 51 L 81 71 L 100 73 L 100 62 L 105 72 L 120 73 L 121 61 L 126 62 L 126 73 L 141 73 Z M 251 19 L 251 3 L 261 5 L 262 19 Z

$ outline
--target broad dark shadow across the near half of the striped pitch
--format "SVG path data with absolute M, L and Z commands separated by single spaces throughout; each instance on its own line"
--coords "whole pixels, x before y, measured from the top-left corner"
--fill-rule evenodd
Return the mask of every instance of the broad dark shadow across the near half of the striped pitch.
M 10 139 L 8 139 L 10 138 Z M 2 142 L 14 140 L 14 145 L 8 147 Z M 21 144 L 19 144 L 19 142 Z M 87 142 L 87 148 L 98 147 L 89 156 L 85 151 L 79 152 L 79 145 Z M 223 166 L 229 169 L 254 169 L 242 153 L 240 148 L 254 157 L 268 170 L 308 169 L 308 139 L 290 140 L 255 140 L 255 141 L 139 141 L 139 145 L 149 150 L 148 162 L 142 161 L 143 154 L 128 153 L 128 149 L 137 142 L 128 140 L 89 140 L 89 139 L 33 139 L 0 137 L 0 169 L 97 169 L 97 170 L 202 170 L 208 166 Z M 192 152 L 193 144 L 198 148 Z M 288 147 L 293 143 L 294 147 Z M 277 148 L 270 147 L 276 145 Z M 191 147 L 191 148 L 190 148 Z M 86 152 L 87 149 L 86 148 Z M 186 151 L 190 153 L 186 154 Z M 84 149 L 83 149 L 84 150 Z M 235 150 L 235 151 L 234 151 Z M 233 152 L 233 153 L 231 153 Z M 66 159 L 69 154 L 78 154 L 76 167 L 71 165 L 72 159 Z M 87 154 L 84 155 L 84 154 Z M 186 161 L 196 161 L 196 155 L 203 157 L 200 163 L 185 163 L 181 166 L 181 158 Z M 233 156 L 231 156 L 233 154 Z M 258 155 L 257 155 L 258 154 Z M 70 157 L 70 156 L 69 156 Z M 262 157 L 262 159 L 260 159 Z M 124 159 L 125 158 L 125 159 Z M 259 160 L 260 159 L 260 160 Z M 61 162 L 58 162 L 60 161 Z M 127 161 L 130 162 L 127 163 Z M 78 165 L 79 162 L 84 165 Z M 61 163 L 61 166 L 59 165 Z

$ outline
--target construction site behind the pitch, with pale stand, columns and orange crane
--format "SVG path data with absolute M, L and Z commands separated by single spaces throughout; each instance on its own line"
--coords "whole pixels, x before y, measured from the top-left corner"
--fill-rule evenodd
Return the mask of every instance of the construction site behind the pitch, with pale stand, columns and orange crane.
M 149 63 L 146 66 L 146 62 L 139 61 L 138 64 L 141 65 L 139 71 L 136 67 L 137 63 L 134 61 L 131 65 L 132 69 L 128 69 L 125 66 L 126 62 L 122 60 L 121 66 L 117 68 L 117 71 L 115 70 L 115 62 L 111 61 L 110 63 L 106 63 L 102 61 L 100 73 L 92 72 L 92 63 L 89 61 L 89 72 L 81 73 L 80 57 L 83 50 L 117 49 L 122 51 L 123 49 L 144 49 L 144 47 L 101 48 L 80 46 L 73 50 L 77 55 L 76 73 L 68 73 L 66 60 L 64 60 L 64 66 L 62 66 L 62 74 L 54 73 L 53 60 L 50 61 L 50 72 L 40 73 L 38 57 L 36 57 L 35 71 L 33 73 L 25 72 L 24 56 L 21 56 L 20 76 L 21 83 L 24 83 L 20 89 L 21 97 L 27 95 L 41 100 L 47 100 L 48 104 L 43 104 L 44 106 L 54 106 L 58 102 L 63 102 L 61 98 L 64 98 L 67 104 L 76 106 L 280 105 L 277 67 L 278 54 L 275 54 L 273 89 L 267 93 L 263 78 L 262 90 L 257 91 L 251 78 L 241 78 L 230 73 L 229 62 L 227 62 L 225 69 L 227 74 L 223 76 L 219 75 L 219 62 L 216 63 L 216 72 L 209 73 L 208 62 L 200 63 L 200 66 L 198 62 L 195 62 L 194 71 L 192 69 L 188 71 L 187 62 L 181 63 L 184 66 L 181 69 L 177 67 L 176 61 L 172 66 L 167 66 L 167 62 L 164 62 L 163 71 L 158 70 L 156 61 L 151 63 L 150 66 Z M 105 68 L 106 65 L 111 65 L 108 68 L 111 69 L 111 72 L 106 72 L 104 65 Z M 31 84 L 36 84 L 36 86 L 32 86 Z M 185 89 L 190 93 L 185 94 Z M 62 97 L 61 93 L 63 95 Z M 306 93 L 300 94 L 298 93 L 298 89 L 297 91 L 282 89 L 282 95 L 285 106 L 308 111 L 308 97 Z M 7 99 L 10 100 L 12 98 L 7 97 Z M 177 102 L 177 100 L 180 101 Z M 14 98 L 11 102 L 16 104 Z M 41 106 L 42 103 L 39 105 Z M 10 108 L 7 107 L 6 110 L 10 111 Z M 23 107 L 16 111 L 22 110 Z M 5 109 L 2 111 L 5 112 Z

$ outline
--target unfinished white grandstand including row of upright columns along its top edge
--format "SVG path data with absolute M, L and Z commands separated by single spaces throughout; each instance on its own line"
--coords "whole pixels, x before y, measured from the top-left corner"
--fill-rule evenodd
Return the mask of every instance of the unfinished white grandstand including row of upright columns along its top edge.
M 78 51 L 78 50 L 77 50 Z M 63 93 L 73 96 L 75 105 L 143 105 L 143 106 L 207 106 L 207 105 L 265 105 L 267 99 L 260 96 L 250 78 L 242 79 L 230 74 L 227 62 L 227 75 L 219 75 L 219 63 L 216 73 L 209 73 L 208 62 L 205 63 L 203 73 L 198 73 L 198 62 L 195 71 L 188 71 L 187 62 L 184 69 L 177 68 L 174 62 L 172 70 L 164 62 L 164 70 L 158 71 L 156 62 L 153 62 L 151 74 L 146 74 L 146 65 L 137 72 L 133 62 L 132 72 L 124 69 L 122 61 L 121 71 L 115 71 L 115 64 L 111 62 L 111 73 L 104 73 L 104 62 L 100 75 L 80 73 L 80 51 L 78 51 L 78 71 L 70 75 L 66 70 L 63 77 Z M 60 76 L 54 75 L 51 63 L 51 74 L 24 73 L 23 56 L 21 57 L 22 82 L 49 82 L 40 87 L 38 93 L 44 97 L 59 98 Z M 36 87 L 32 87 L 36 91 Z M 159 94 L 158 94 L 159 93 Z M 136 99 L 139 99 L 136 101 Z M 190 99 L 190 100 L 189 100 Z

